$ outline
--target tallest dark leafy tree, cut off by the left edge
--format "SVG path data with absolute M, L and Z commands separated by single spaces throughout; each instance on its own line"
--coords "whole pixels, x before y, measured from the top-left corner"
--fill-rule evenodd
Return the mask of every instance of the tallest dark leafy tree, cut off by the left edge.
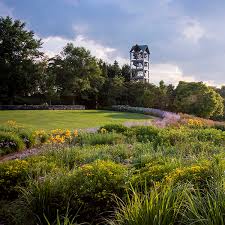
M 0 18 L 0 93 L 13 103 L 15 95 L 32 94 L 38 89 L 41 40 L 10 17 Z

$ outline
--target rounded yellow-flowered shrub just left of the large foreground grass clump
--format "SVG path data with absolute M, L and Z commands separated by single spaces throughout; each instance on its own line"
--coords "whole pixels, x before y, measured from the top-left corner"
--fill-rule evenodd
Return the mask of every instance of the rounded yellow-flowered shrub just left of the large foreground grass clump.
M 82 211 L 87 220 L 107 215 L 114 206 L 113 195 L 123 197 L 128 181 L 128 171 L 125 166 L 111 161 L 97 160 L 75 170 L 68 182 L 69 190 L 74 190 L 77 202 L 80 202 Z M 65 190 L 69 192 L 69 190 Z M 71 205 L 72 207 L 72 205 Z

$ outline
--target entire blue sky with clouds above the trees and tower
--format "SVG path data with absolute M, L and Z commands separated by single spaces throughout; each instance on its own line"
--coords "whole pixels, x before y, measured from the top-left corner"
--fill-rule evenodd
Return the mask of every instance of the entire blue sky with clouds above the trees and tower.
M 225 84 L 224 0 L 0 0 L 0 16 L 22 19 L 57 54 L 67 42 L 108 62 L 148 44 L 151 81 Z

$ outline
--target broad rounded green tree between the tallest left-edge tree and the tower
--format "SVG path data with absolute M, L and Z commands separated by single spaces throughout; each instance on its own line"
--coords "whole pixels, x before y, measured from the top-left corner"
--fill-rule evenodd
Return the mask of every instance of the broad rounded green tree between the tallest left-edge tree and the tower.
M 69 43 L 61 55 L 55 57 L 53 64 L 56 86 L 62 96 L 73 96 L 73 104 L 90 100 L 92 104 L 98 104 L 105 77 L 90 51 Z

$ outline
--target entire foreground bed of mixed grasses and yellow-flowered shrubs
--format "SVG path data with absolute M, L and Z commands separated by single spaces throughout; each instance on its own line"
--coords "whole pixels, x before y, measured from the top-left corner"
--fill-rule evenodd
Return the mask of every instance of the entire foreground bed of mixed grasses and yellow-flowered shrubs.
M 18 225 L 72 218 L 93 225 L 221 224 L 223 194 L 217 193 L 224 192 L 225 132 L 202 122 L 110 125 L 96 133 L 38 130 L 39 143 L 47 134 L 47 140 L 59 135 L 69 145 L 43 145 L 39 155 L 0 164 L 0 215 Z M 13 126 L 10 132 L 19 133 Z

